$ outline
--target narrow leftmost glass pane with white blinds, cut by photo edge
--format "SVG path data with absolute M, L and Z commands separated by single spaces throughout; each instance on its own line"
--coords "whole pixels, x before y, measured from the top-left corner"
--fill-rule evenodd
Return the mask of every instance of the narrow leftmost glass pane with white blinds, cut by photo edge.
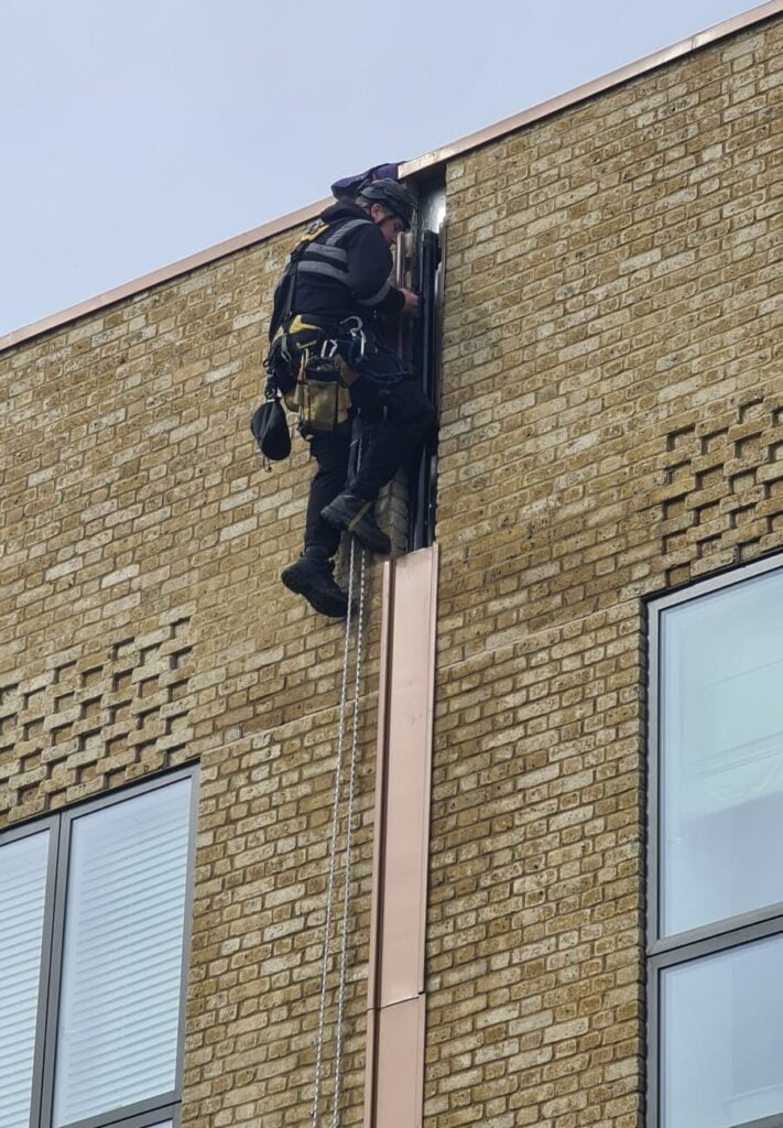
M 0 847 L 0 1128 L 27 1128 L 49 830 Z

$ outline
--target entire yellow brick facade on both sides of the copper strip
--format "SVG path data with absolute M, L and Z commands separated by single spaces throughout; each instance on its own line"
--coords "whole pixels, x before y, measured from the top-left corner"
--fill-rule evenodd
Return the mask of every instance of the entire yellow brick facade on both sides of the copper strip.
M 777 20 L 447 166 L 428 1128 L 641 1123 L 642 598 L 783 543 L 781 54 Z M 0 355 L 0 818 L 201 763 L 186 1128 L 309 1112 L 342 635 L 278 582 L 306 451 L 247 431 L 292 241 Z

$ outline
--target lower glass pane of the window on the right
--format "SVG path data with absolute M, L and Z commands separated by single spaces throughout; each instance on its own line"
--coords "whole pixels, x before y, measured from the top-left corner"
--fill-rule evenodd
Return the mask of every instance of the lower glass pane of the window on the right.
M 662 1128 L 734 1128 L 783 1112 L 783 937 L 662 977 Z

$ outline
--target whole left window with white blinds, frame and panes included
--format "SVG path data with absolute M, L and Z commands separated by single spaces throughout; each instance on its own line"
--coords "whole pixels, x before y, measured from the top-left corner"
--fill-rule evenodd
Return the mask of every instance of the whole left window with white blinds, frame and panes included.
M 193 772 L 0 837 L 0 1128 L 171 1128 Z

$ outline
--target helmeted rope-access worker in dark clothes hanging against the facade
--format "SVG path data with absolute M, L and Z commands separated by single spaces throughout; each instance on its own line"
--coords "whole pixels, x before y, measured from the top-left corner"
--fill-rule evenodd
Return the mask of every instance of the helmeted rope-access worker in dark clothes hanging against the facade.
M 384 318 L 412 316 L 419 308 L 416 294 L 389 281 L 390 248 L 399 232 L 410 229 L 414 208 L 396 180 L 366 180 L 354 201 L 341 200 L 322 213 L 294 248 L 275 291 L 267 363 L 280 390 L 290 393 L 296 372 L 301 385 L 302 371 L 315 378 L 315 387 L 318 367 L 328 363 L 325 354 L 336 354 L 341 388 L 350 385 L 350 407 L 335 408 L 332 429 L 302 431 L 318 469 L 310 483 L 302 555 L 281 575 L 290 591 L 335 618 L 347 614 L 347 596 L 334 579 L 341 532 L 349 530 L 370 552 L 390 552 L 389 538 L 373 517 L 373 503 L 434 423 L 421 385 L 381 343 Z M 305 368 L 302 361 L 310 358 L 314 364 Z M 349 477 L 357 414 L 376 425 Z

